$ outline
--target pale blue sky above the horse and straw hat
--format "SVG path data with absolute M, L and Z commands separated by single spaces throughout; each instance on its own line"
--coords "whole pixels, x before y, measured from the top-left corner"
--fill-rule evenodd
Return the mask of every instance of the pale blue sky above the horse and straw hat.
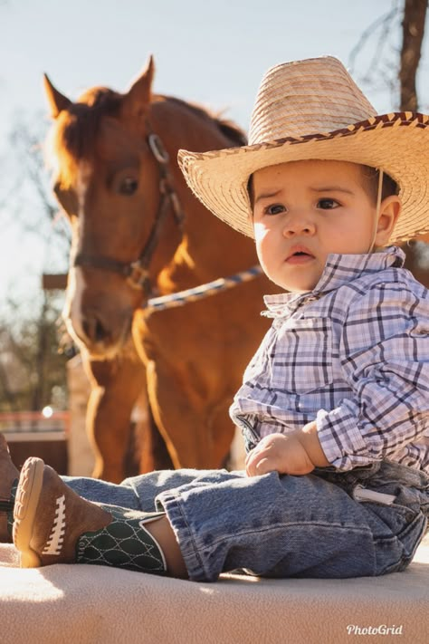
M 43 72 L 71 99 L 94 85 L 126 91 L 152 53 L 155 91 L 224 109 L 247 130 L 269 67 L 332 54 L 350 67 L 377 110 L 389 111 L 397 107 L 386 80 L 398 64 L 400 21 L 384 35 L 380 26 L 356 59 L 351 54 L 395 5 L 402 0 L 0 0 L 0 309 L 7 294 L 35 293 L 43 271 L 66 268 L 49 226 L 24 234 L 15 216 L 25 209 L 31 218 L 40 209 L 37 194 L 25 187 L 11 132 L 20 123 L 38 132 L 49 127 Z M 418 90 L 427 111 L 427 38 Z M 48 185 L 48 170 L 45 180 Z

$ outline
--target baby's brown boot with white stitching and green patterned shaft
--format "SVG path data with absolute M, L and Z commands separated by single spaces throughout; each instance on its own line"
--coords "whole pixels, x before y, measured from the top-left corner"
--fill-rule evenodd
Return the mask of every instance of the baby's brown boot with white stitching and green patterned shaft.
M 23 568 L 79 562 L 163 574 L 164 554 L 143 526 L 161 516 L 86 501 L 31 457 L 16 490 L 14 545 Z

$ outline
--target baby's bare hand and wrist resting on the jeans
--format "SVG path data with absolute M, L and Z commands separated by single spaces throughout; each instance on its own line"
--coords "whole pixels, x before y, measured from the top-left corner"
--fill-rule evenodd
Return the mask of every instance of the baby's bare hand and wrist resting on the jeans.
M 274 471 L 301 476 L 309 474 L 316 466 L 329 466 L 329 461 L 320 447 L 315 421 L 291 434 L 263 437 L 246 458 L 248 476 Z

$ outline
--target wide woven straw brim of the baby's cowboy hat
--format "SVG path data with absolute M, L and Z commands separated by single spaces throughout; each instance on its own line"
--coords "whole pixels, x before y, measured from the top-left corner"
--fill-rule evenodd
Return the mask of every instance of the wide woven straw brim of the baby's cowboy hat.
M 429 116 L 377 115 L 348 128 L 205 153 L 180 150 L 188 186 L 226 224 L 253 237 L 247 190 L 258 169 L 307 159 L 338 160 L 382 168 L 400 188 L 402 214 L 391 243 L 429 232 Z

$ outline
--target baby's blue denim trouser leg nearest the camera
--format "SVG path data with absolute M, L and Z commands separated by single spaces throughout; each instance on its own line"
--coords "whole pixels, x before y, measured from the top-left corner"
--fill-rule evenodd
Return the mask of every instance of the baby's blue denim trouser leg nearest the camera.
M 401 570 L 412 552 L 397 535 L 413 522 L 399 512 L 388 524 L 368 506 L 319 476 L 277 473 L 224 473 L 216 485 L 200 477 L 157 496 L 194 581 L 235 569 L 324 578 Z M 414 521 L 411 550 L 425 527 L 423 514 Z

